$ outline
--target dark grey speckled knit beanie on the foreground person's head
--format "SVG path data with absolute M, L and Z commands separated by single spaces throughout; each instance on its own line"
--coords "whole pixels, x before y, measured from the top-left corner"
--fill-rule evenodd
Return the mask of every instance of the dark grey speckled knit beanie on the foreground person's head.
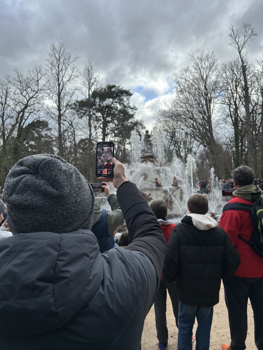
M 6 177 L 4 198 L 13 235 L 92 227 L 92 187 L 79 170 L 53 154 L 35 154 L 18 161 Z

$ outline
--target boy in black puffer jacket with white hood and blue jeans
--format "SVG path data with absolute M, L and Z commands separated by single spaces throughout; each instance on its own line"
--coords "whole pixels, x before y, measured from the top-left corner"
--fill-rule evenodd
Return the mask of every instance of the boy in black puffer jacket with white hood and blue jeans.
M 190 214 L 176 225 L 168 241 L 163 276 L 168 282 L 177 281 L 178 350 L 192 350 L 195 318 L 196 349 L 209 350 L 221 279 L 235 273 L 240 258 L 217 221 L 205 215 L 208 200 L 204 195 L 191 196 L 187 206 Z

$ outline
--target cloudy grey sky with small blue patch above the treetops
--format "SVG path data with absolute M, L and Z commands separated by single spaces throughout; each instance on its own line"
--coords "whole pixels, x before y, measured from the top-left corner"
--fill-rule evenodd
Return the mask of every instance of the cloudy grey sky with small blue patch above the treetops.
M 173 73 L 190 64 L 188 54 L 214 51 L 220 62 L 230 23 L 256 27 L 249 57 L 263 53 L 262 0 L 0 0 L 0 78 L 14 68 L 45 66 L 50 43 L 61 38 L 91 61 L 102 85 L 130 89 L 137 115 L 152 127 L 155 113 L 173 100 Z

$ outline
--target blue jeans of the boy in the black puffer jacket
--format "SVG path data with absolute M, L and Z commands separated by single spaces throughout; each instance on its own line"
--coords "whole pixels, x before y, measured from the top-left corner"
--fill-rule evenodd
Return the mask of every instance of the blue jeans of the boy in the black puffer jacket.
M 188 305 L 179 300 L 178 350 L 192 350 L 192 335 L 195 317 L 198 327 L 195 334 L 196 350 L 209 350 L 210 331 L 213 320 L 213 306 Z

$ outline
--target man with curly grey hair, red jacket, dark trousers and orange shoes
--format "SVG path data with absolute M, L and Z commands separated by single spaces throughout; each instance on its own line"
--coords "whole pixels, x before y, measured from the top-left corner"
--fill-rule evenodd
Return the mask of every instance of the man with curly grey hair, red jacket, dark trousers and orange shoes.
M 247 166 L 233 170 L 235 191 L 228 203 L 253 204 L 260 202 L 261 189 L 254 185 L 255 173 Z M 254 311 L 255 343 L 263 350 L 263 259 L 238 235 L 251 241 L 253 223 L 250 211 L 227 210 L 220 219 L 220 227 L 227 232 L 240 255 L 241 264 L 234 276 L 223 280 L 225 301 L 228 308 L 231 344 L 223 344 L 222 350 L 246 348 L 248 320 L 247 305 L 250 299 Z

